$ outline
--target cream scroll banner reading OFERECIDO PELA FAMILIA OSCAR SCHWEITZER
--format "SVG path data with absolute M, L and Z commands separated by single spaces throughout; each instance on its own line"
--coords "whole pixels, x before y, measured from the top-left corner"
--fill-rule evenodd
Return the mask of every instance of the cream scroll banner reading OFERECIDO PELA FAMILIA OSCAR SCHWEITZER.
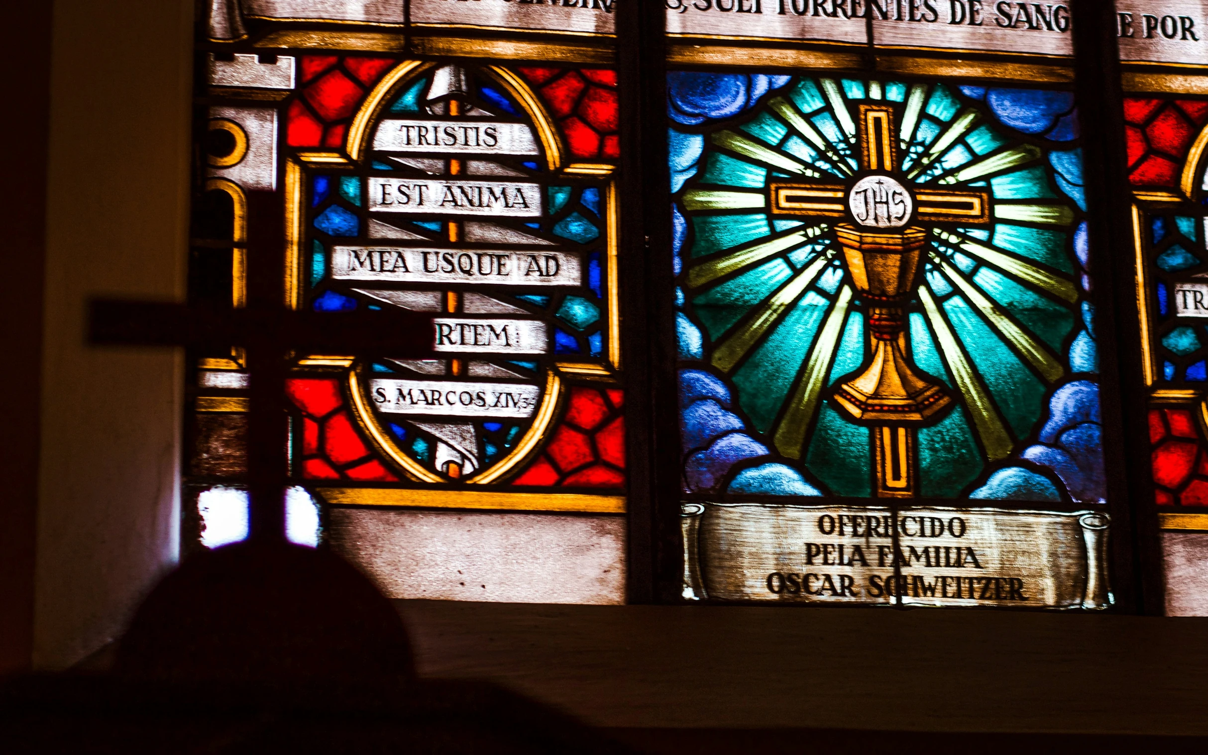
M 685 597 L 1103 609 L 1105 513 L 684 504 Z M 899 533 L 894 575 L 893 530 Z

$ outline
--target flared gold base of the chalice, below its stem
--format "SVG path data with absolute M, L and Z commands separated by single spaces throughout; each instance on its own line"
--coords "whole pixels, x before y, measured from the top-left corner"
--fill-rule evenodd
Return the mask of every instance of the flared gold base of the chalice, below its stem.
M 914 372 L 896 339 L 878 341 L 869 367 L 834 395 L 860 424 L 923 424 L 952 405 L 942 387 Z

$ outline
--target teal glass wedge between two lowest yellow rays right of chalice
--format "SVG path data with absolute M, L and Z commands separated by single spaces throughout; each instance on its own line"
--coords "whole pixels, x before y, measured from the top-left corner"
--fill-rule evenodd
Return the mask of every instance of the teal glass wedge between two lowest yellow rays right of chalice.
M 1024 437 L 1032 431 L 1044 406 L 1044 383 L 994 335 L 963 297 L 948 298 L 943 302 L 943 309 L 948 313 L 957 338 L 964 344 L 986 388 L 998 403 L 1003 419 L 1015 432 L 1015 437 Z

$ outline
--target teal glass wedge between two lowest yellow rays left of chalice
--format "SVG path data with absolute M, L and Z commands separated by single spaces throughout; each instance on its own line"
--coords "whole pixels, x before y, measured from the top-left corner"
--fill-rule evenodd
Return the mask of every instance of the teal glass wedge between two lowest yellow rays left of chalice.
M 742 406 L 760 432 L 767 432 L 776 420 L 830 306 L 818 294 L 807 292 L 734 372 Z

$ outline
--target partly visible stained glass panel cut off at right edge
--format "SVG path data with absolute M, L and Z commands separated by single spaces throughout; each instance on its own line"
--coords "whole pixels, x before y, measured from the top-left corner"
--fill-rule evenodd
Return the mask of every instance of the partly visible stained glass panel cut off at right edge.
M 1123 159 L 1132 194 L 1137 315 L 1149 420 L 1152 505 L 1161 528 L 1166 610 L 1204 611 L 1189 580 L 1208 554 L 1203 345 L 1208 5 L 1116 4 L 1123 63 Z

